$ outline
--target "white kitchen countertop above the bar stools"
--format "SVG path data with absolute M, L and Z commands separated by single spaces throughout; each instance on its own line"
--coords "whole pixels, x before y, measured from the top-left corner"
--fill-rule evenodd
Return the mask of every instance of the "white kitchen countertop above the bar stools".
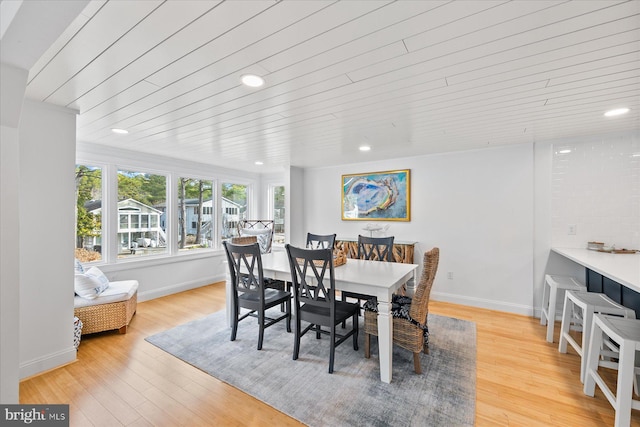
M 640 253 L 613 254 L 577 248 L 551 250 L 578 264 L 640 292 Z

